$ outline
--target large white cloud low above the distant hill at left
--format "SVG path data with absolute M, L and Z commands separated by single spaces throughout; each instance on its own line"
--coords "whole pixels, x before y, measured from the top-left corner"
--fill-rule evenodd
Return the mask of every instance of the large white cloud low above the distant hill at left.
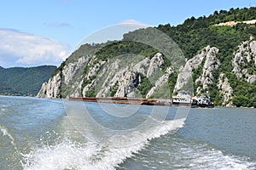
M 47 37 L 0 29 L 0 63 L 15 65 L 60 65 L 67 58 L 69 46 Z

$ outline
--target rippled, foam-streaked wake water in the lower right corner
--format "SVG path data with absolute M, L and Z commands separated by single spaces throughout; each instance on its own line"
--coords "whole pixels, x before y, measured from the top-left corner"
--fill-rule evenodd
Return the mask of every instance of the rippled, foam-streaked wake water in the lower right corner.
M 255 170 L 256 162 L 247 156 L 227 155 L 212 145 L 183 139 L 177 135 L 165 136 L 145 148 L 129 160 L 138 169 L 182 169 L 182 170 Z

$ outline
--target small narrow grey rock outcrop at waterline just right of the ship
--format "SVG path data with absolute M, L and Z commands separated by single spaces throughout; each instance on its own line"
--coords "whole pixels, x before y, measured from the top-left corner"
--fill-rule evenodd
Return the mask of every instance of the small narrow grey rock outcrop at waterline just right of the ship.
M 230 87 L 230 82 L 227 77 L 224 76 L 224 73 L 221 73 L 218 77 L 218 89 L 220 94 L 223 96 L 222 105 L 232 106 L 232 94 L 233 89 Z

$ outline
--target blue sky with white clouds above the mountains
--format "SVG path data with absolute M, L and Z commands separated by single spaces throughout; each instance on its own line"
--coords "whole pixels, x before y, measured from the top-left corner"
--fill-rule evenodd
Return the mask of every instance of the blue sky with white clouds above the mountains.
M 256 0 L 8 0 L 0 6 L 0 65 L 60 65 L 84 37 L 125 20 L 148 26 L 182 24 Z

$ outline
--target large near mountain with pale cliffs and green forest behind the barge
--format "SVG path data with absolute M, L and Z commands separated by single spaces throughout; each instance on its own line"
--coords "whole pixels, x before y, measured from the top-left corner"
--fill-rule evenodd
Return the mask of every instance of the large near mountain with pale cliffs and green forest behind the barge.
M 146 98 L 171 98 L 162 88 L 165 84 L 175 94 L 192 82 L 190 93 L 209 94 L 215 105 L 256 107 L 255 22 L 255 7 L 230 8 L 208 17 L 191 17 L 178 26 L 155 27 L 177 43 L 186 58 L 183 66 L 178 65 L 179 60 L 170 62 L 165 53 L 137 42 L 146 40 L 152 28 L 131 31 L 124 35 L 124 41 L 84 44 L 44 82 L 38 96 L 137 97 L 139 93 Z M 163 37 L 156 43 L 165 41 Z M 171 45 L 165 52 L 172 49 Z M 131 61 L 125 60 L 125 54 L 143 57 Z M 164 74 L 157 75 L 157 71 Z M 100 82 L 98 78 L 102 78 Z

